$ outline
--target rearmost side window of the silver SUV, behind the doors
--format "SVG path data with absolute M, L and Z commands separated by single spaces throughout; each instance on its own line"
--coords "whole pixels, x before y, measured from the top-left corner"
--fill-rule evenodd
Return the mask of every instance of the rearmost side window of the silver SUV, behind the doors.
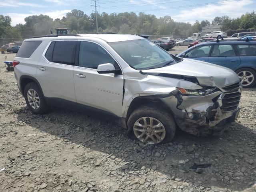
M 16 57 L 29 58 L 42 41 L 25 41 L 22 43 Z

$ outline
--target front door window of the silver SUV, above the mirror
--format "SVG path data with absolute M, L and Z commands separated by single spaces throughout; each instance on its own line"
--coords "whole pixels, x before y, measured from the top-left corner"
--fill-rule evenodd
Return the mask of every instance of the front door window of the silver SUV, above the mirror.
M 115 66 L 115 60 L 98 44 L 81 41 L 79 49 L 79 66 L 97 69 L 98 65 L 112 63 Z

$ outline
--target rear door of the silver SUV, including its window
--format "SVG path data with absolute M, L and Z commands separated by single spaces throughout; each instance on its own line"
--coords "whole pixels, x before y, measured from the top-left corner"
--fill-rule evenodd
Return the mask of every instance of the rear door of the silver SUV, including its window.
M 45 97 L 76 102 L 73 78 L 76 43 L 76 40 L 50 42 L 39 60 L 36 78 Z

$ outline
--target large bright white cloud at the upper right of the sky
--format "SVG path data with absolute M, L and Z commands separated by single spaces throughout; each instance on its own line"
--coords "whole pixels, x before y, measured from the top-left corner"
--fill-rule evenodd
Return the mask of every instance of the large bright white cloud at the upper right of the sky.
M 249 12 L 248 5 L 253 4 L 252 0 L 240 0 L 233 2 L 221 2 L 209 4 L 197 8 L 182 10 L 178 15 L 173 16 L 174 21 L 194 23 L 195 20 L 213 20 L 216 16 L 228 15 L 236 18 Z

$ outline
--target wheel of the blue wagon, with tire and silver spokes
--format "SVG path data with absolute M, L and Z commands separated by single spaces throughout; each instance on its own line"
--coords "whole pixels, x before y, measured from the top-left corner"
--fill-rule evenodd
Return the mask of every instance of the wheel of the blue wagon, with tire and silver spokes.
M 252 87 L 256 83 L 256 72 L 251 68 L 241 68 L 236 71 L 244 88 Z M 249 77 L 250 76 L 250 77 Z M 250 82 L 250 83 L 248 83 Z

